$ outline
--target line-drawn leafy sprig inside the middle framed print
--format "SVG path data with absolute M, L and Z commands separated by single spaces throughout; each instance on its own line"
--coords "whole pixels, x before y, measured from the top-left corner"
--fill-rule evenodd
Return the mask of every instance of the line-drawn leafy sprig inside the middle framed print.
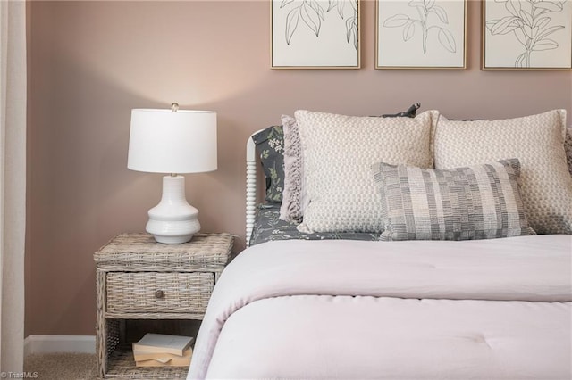
M 415 36 L 416 31 L 422 33 L 423 54 L 427 53 L 427 39 L 435 34 L 439 43 L 450 53 L 457 52 L 455 37 L 449 29 L 441 26 L 449 24 L 449 16 L 445 9 L 435 0 L 412 0 L 409 7 L 416 9 L 418 18 L 408 14 L 397 13 L 383 21 L 384 28 L 403 28 L 403 41 L 408 42 Z M 430 33 L 430 32 L 436 33 Z

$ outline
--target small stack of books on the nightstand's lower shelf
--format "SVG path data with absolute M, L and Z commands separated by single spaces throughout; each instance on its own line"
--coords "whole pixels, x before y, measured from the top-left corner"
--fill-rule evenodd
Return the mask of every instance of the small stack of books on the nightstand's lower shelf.
M 133 343 L 137 367 L 189 367 L 193 349 L 191 336 L 147 333 Z

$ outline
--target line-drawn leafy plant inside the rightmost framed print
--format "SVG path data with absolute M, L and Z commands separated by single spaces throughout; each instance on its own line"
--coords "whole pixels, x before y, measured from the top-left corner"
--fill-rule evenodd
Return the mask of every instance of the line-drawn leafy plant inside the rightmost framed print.
M 501 19 L 487 20 L 486 29 L 492 36 L 513 34 L 522 45 L 523 52 L 515 59 L 516 68 L 530 68 L 531 55 L 559 47 L 549 38 L 565 29 L 564 25 L 551 25 L 551 13 L 564 10 L 567 0 L 494 0 L 504 3 L 506 15 Z

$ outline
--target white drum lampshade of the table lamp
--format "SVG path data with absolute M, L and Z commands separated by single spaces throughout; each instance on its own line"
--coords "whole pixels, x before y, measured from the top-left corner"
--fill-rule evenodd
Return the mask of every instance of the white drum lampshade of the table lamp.
M 127 167 L 151 173 L 216 170 L 216 112 L 131 111 Z

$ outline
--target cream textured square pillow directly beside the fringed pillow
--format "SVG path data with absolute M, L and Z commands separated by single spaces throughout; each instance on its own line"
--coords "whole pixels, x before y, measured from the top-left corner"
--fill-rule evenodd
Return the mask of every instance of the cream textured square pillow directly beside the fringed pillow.
M 383 229 L 374 162 L 433 165 L 431 130 L 439 112 L 416 118 L 378 118 L 295 112 L 309 204 L 303 232 L 376 232 Z

